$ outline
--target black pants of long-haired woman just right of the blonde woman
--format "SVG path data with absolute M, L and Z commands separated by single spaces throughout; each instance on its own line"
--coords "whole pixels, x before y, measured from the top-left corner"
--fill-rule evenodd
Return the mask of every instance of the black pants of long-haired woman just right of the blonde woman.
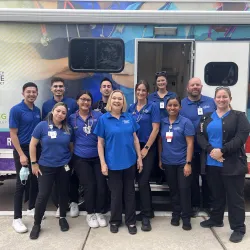
M 140 143 L 141 149 L 144 148 L 145 143 Z M 152 195 L 149 184 L 152 169 L 155 163 L 156 146 L 153 144 L 149 149 L 147 156 L 142 160 L 143 171 L 137 175 L 141 213 L 144 216 L 150 217 L 152 214 Z

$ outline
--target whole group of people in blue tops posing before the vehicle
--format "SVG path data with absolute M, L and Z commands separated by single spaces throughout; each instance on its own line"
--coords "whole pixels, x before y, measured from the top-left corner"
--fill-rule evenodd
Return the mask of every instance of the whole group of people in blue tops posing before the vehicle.
M 92 94 L 85 90 L 76 101 L 64 97 L 63 79 L 53 78 L 54 96 L 43 105 L 43 121 L 34 105 L 37 86 L 31 82 L 23 86 L 24 100 L 10 111 L 18 175 L 12 224 L 16 232 L 27 232 L 22 222 L 23 193 L 27 191 L 28 212 L 34 215 L 30 238 L 39 237 L 52 190 L 57 196 L 60 228 L 68 231 L 68 204 L 72 217 L 79 214 L 79 184 L 84 188 L 90 227 L 107 226 L 104 213 L 110 191 L 112 233 L 122 224 L 123 206 L 130 234 L 137 233 L 136 221 L 141 221 L 142 231 L 151 231 L 154 212 L 149 180 L 157 166 L 164 171 L 170 189 L 171 225 L 179 226 L 182 220 L 183 230 L 191 230 L 191 217 L 203 208 L 210 218 L 201 226 L 221 227 L 227 201 L 233 230 L 230 240 L 242 240 L 246 230 L 244 144 L 250 132 L 245 114 L 231 107 L 228 87 L 217 87 L 213 99 L 202 95 L 201 80 L 192 78 L 187 97 L 180 100 L 167 90 L 166 72 L 156 73 L 155 79 L 157 91 L 149 94 L 147 81 L 139 81 L 136 102 L 127 107 L 123 92 L 113 90 L 109 79 L 101 81 L 102 99 L 93 103 Z

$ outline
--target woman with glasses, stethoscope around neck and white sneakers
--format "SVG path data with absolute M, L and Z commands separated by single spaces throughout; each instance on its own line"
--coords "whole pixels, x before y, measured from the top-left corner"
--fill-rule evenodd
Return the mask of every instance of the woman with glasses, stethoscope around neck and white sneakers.
M 93 97 L 89 91 L 82 90 L 76 100 L 79 111 L 69 117 L 69 124 L 74 130 L 72 165 L 84 189 L 89 227 L 106 227 L 107 222 L 102 213 L 105 209 L 107 185 L 101 172 L 97 136 L 93 134 L 102 113 L 91 110 Z

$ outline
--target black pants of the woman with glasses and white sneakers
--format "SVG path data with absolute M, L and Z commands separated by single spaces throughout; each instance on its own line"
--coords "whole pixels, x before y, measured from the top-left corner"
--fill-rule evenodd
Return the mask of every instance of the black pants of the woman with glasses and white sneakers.
M 107 198 L 107 184 L 101 172 L 99 157 L 81 158 L 74 155 L 73 168 L 84 188 L 87 213 L 103 213 Z

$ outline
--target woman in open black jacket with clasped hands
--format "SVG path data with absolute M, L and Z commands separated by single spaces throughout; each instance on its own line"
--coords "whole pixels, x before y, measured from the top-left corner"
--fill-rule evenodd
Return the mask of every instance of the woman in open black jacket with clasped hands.
M 242 241 L 246 233 L 244 183 L 247 157 L 244 144 L 250 125 L 243 112 L 233 110 L 228 87 L 218 87 L 214 96 L 217 110 L 202 116 L 197 141 L 213 201 L 210 218 L 201 227 L 223 227 L 226 203 L 233 233 L 230 241 Z

